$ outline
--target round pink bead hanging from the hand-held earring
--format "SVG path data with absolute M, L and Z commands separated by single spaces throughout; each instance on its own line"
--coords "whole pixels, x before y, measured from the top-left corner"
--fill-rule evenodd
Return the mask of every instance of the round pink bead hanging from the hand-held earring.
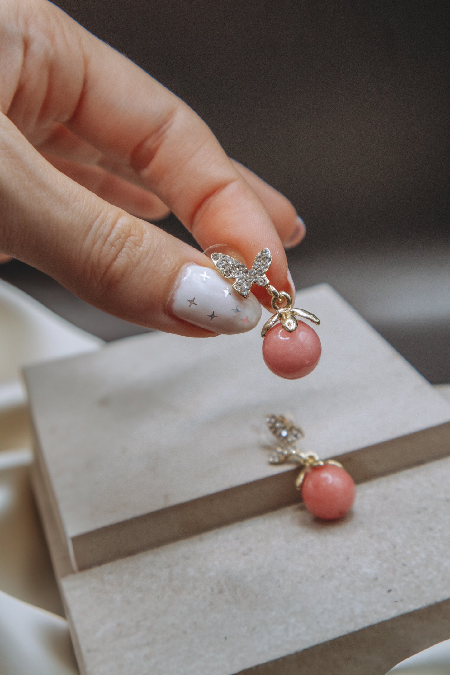
M 279 377 L 298 379 L 308 375 L 318 364 L 320 354 L 322 346 L 316 331 L 303 321 L 292 333 L 276 325 L 264 335 L 262 357 Z

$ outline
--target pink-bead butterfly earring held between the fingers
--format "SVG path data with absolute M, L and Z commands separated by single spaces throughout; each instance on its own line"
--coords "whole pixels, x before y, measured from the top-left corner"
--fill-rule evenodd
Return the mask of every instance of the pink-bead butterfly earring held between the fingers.
M 298 379 L 314 370 L 320 359 L 322 347 L 317 333 L 304 321 L 297 317 L 308 319 L 320 324 L 318 318 L 292 306 L 292 298 L 285 291 L 277 291 L 266 277 L 266 271 L 271 266 L 272 256 L 269 248 L 263 248 L 254 259 L 252 269 L 247 269 L 244 263 L 223 253 L 211 255 L 216 269 L 225 279 L 235 279 L 234 290 L 244 298 L 248 296 L 253 284 L 258 284 L 271 295 L 271 305 L 275 314 L 264 323 L 261 337 L 262 356 L 266 366 L 279 377 Z M 277 323 L 281 325 L 275 327 Z

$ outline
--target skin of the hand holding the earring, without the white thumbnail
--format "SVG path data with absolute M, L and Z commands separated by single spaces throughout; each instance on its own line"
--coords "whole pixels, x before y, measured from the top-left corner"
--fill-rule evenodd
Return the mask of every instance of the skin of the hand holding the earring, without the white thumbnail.
M 117 317 L 207 337 L 170 302 L 204 254 L 163 232 L 170 211 L 203 249 L 226 244 L 291 291 L 291 203 L 227 157 L 180 99 L 47 0 L 0 3 L 0 261 L 18 258 Z M 144 220 L 146 219 L 146 220 Z M 260 302 L 269 296 L 254 287 Z

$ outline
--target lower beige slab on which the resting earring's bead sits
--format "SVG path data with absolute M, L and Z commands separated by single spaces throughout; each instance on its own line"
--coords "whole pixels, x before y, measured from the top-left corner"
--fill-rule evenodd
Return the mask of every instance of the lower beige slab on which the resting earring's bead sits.
M 449 479 L 447 458 L 360 485 L 340 522 L 291 506 L 66 576 L 86 673 L 383 674 L 449 616 L 429 609 L 415 645 L 399 619 L 450 597 Z

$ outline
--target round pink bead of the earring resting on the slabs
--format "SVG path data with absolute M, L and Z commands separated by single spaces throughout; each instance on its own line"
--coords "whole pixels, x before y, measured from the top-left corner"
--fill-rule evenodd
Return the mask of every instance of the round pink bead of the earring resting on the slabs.
M 304 477 L 304 505 L 314 516 L 325 520 L 342 518 L 355 501 L 355 483 L 340 466 L 324 464 L 312 468 Z

